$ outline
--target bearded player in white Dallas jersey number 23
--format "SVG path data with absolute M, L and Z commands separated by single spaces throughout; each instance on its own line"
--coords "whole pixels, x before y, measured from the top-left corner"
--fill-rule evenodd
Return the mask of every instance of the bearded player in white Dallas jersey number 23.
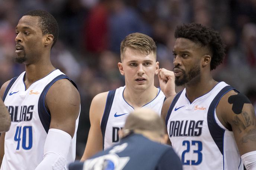
M 185 89 L 166 99 L 161 116 L 183 169 L 241 170 L 243 163 L 255 169 L 253 106 L 245 95 L 211 76 L 225 55 L 220 35 L 192 23 L 178 26 L 175 38 L 175 84 L 185 84 Z

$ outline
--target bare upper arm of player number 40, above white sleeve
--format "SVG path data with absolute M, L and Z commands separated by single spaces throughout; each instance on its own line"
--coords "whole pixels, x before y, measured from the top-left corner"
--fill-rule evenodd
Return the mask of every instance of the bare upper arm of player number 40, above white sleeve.
M 68 79 L 60 79 L 47 92 L 45 104 L 51 112 L 49 128 L 63 130 L 73 138 L 80 111 L 80 95 L 77 89 Z

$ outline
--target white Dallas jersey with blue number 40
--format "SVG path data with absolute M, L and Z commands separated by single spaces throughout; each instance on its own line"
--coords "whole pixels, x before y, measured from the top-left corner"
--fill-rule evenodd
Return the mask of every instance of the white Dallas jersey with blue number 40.
M 45 107 L 45 95 L 54 82 L 69 79 L 60 70 L 54 70 L 26 89 L 24 76 L 25 72 L 13 78 L 4 92 L 4 104 L 10 112 L 12 123 L 5 134 L 1 170 L 34 170 L 43 160 L 45 139 L 51 121 L 51 114 Z M 76 156 L 77 127 L 78 118 L 68 152 L 68 163 L 73 162 Z

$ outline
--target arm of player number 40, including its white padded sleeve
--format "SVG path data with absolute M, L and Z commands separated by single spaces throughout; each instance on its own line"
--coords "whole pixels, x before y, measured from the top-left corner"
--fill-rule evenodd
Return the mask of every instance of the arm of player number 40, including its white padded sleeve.
M 68 79 L 60 79 L 49 88 L 45 104 L 51 113 L 51 122 L 45 141 L 44 158 L 36 170 L 51 169 L 60 162 L 60 167 L 64 167 L 63 159 L 67 157 L 79 116 L 80 95 Z

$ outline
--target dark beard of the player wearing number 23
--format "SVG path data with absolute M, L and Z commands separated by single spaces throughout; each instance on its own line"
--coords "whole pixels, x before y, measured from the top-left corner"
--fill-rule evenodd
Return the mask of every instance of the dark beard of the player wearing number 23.
M 183 72 L 183 78 L 180 78 L 180 77 L 175 78 L 175 84 L 177 86 L 184 85 L 188 82 L 189 82 L 189 84 L 196 84 L 196 82 L 200 81 L 200 77 L 198 77 L 198 79 L 191 81 L 193 78 L 195 78 L 196 76 L 201 74 L 199 65 L 195 65 L 193 68 L 191 68 L 191 70 L 188 72 L 188 74 L 186 74 L 185 71 L 183 71 L 183 70 L 182 70 L 182 72 Z

